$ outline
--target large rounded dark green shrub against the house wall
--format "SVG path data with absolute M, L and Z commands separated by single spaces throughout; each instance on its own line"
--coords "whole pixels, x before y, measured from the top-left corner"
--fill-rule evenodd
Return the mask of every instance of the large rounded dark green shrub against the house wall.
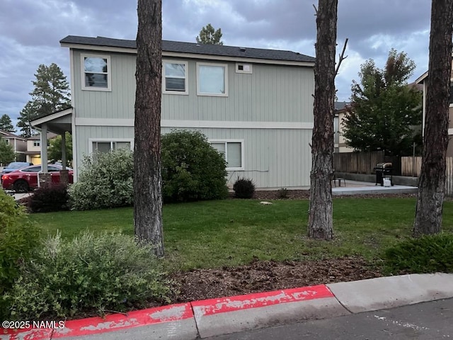
M 214 200 L 228 195 L 226 162 L 205 135 L 175 130 L 162 136 L 164 202 Z

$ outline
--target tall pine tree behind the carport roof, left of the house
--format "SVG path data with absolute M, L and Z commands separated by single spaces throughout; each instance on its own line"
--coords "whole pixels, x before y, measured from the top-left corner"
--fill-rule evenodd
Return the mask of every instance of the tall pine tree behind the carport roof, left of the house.
M 35 89 L 30 92 L 31 101 L 25 104 L 17 124 L 23 137 L 32 135 L 30 120 L 60 111 L 70 105 L 69 84 L 57 64 L 40 64 L 32 84 Z

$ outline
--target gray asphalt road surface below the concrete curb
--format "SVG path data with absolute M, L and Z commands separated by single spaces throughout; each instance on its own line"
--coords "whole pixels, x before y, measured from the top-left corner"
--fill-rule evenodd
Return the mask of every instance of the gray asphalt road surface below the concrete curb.
M 214 336 L 212 340 L 452 339 L 453 298 Z

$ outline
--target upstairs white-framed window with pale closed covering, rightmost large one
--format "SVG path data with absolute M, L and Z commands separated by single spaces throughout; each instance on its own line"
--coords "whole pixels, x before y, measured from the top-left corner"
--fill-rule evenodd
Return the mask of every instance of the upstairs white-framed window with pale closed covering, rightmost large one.
M 197 95 L 228 96 L 228 65 L 197 62 Z

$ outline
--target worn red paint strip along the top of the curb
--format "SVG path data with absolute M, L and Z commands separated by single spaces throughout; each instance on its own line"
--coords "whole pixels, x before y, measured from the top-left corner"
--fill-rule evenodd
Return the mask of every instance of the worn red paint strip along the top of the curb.
M 312 285 L 303 288 L 237 295 L 149 308 L 147 310 L 136 310 L 127 314 L 110 314 L 105 318 L 90 317 L 88 319 L 71 320 L 64 324 L 64 328 L 21 330 L 0 328 L 0 336 L 1 339 L 4 339 L 4 335 L 9 335 L 9 340 L 48 340 L 51 337 L 52 339 L 58 339 L 67 336 L 101 334 L 108 331 L 195 318 L 192 308 L 194 308 L 197 316 L 205 316 L 323 297 L 334 297 L 334 295 L 326 285 Z

